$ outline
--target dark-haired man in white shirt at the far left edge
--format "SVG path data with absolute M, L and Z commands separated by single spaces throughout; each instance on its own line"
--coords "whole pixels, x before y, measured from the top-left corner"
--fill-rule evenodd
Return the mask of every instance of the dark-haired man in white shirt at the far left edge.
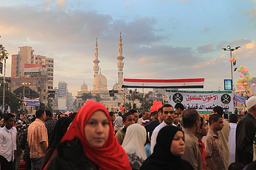
M 16 156 L 17 130 L 13 127 L 14 115 L 4 116 L 4 128 L 0 130 L 0 163 L 1 169 L 15 169 L 14 157 Z

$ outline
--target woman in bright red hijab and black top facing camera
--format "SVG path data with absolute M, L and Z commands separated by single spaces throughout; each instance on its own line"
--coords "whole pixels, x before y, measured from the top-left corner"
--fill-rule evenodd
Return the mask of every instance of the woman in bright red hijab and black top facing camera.
M 87 101 L 78 111 L 45 169 L 131 169 L 103 104 Z

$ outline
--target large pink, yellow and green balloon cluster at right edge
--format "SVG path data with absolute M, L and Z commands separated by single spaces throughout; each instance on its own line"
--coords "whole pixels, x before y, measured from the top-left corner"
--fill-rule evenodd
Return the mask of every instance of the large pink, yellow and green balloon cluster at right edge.
M 250 73 L 248 72 L 248 69 L 246 69 L 244 66 L 240 66 L 237 69 L 239 74 L 239 79 L 237 81 L 237 83 L 235 84 L 235 86 L 237 86 L 237 89 L 244 89 L 244 85 L 247 85 L 250 83 L 250 81 L 252 81 L 252 77 L 250 77 Z M 254 86 L 253 86 L 254 85 Z M 252 84 L 253 87 L 256 86 L 255 83 Z

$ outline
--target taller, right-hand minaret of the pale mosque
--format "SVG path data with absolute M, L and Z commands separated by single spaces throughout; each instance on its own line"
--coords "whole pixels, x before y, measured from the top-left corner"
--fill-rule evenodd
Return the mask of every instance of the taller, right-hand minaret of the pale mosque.
M 123 68 L 124 68 L 124 57 L 122 56 L 122 36 L 120 32 L 120 38 L 119 38 L 119 56 L 117 57 L 117 68 L 118 68 L 118 84 L 119 86 L 123 83 Z M 121 86 L 122 87 L 122 86 Z

